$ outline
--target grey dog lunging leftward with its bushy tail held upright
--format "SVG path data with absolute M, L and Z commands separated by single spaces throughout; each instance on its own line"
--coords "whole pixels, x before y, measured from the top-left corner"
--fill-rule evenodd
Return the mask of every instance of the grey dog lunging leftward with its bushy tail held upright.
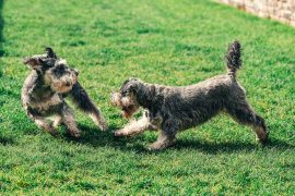
M 252 126 L 258 139 L 268 139 L 264 120 L 246 100 L 245 89 L 236 78 L 241 65 L 240 44 L 228 46 L 227 74 L 217 75 L 194 85 L 172 87 L 143 83 L 137 78 L 126 81 L 119 93 L 111 95 L 111 103 L 121 108 L 125 118 L 131 118 L 140 107 L 146 109 L 138 121 L 131 121 L 115 132 L 116 136 L 129 136 L 145 130 L 161 128 L 161 134 L 150 149 L 164 149 L 174 144 L 176 134 L 204 123 L 225 111 L 237 122 Z

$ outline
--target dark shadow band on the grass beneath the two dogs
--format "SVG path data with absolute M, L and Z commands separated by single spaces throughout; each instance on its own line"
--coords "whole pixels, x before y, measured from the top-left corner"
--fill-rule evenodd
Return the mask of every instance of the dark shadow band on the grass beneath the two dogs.
M 149 151 L 145 147 L 146 143 L 154 140 L 146 140 L 143 136 L 135 137 L 115 137 L 113 132 L 102 132 L 85 125 L 80 125 L 83 130 L 82 137 L 79 139 L 67 136 L 69 142 L 76 142 L 79 144 L 90 145 L 92 147 L 114 147 L 122 151 L 135 151 L 139 154 L 154 154 Z M 117 130 L 116 126 L 110 126 L 110 130 Z M 276 138 L 271 138 L 264 146 L 259 144 L 251 144 L 245 142 L 224 142 L 224 143 L 209 143 L 205 140 L 196 139 L 177 139 L 172 150 L 192 149 L 204 151 L 208 154 L 221 152 L 237 152 L 237 151 L 252 151 L 256 149 L 271 149 L 276 148 L 280 150 L 295 149 L 295 146 L 287 144 Z

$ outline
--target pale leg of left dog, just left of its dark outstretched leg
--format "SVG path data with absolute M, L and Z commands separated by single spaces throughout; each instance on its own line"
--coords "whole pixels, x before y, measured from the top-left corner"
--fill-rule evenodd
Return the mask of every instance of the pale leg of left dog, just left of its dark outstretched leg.
M 74 121 L 74 114 L 72 113 L 71 108 L 66 102 L 61 110 L 61 117 L 62 117 L 62 122 L 66 124 L 71 136 L 80 137 L 81 132 L 78 128 L 76 123 Z

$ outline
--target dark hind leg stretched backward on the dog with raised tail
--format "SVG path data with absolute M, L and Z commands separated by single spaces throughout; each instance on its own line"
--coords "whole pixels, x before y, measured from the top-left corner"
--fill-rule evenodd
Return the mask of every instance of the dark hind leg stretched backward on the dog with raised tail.
M 268 140 L 264 119 L 258 115 L 247 101 L 236 102 L 226 107 L 227 112 L 239 123 L 252 126 L 260 143 Z

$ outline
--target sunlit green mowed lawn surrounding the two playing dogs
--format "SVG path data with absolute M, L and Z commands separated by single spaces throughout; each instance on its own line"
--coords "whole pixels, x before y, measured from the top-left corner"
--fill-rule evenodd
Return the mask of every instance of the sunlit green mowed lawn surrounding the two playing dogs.
M 0 192 L 3 194 L 295 194 L 295 28 L 209 0 L 0 0 Z M 240 40 L 238 81 L 270 130 L 262 147 L 226 115 L 182 132 L 150 152 L 157 134 L 115 138 L 127 121 L 109 94 L 130 76 L 189 85 L 226 72 Z M 38 130 L 21 106 L 26 56 L 51 46 L 80 70 L 102 109 L 101 132 L 76 111 L 82 137 Z

